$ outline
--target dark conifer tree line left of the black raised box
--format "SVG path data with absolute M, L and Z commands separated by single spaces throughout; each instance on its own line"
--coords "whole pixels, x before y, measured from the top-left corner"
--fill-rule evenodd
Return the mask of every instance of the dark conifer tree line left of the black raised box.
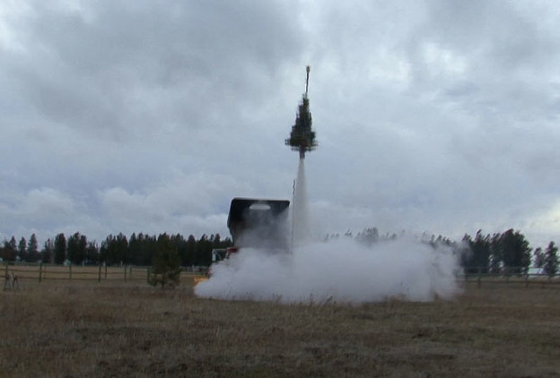
M 159 244 L 158 244 L 159 242 Z M 62 264 L 71 262 L 76 265 L 107 265 L 132 264 L 151 265 L 153 257 L 161 249 L 162 243 L 167 248 L 176 249 L 182 266 L 210 265 L 212 250 L 214 248 L 227 248 L 232 246 L 232 239 L 222 239 L 220 234 L 206 234 L 196 238 L 193 235 L 187 238 L 180 234 L 151 236 L 144 233 L 133 233 L 130 237 L 119 233 L 109 235 L 98 245 L 89 241 L 87 236 L 79 232 L 66 238 L 60 233 L 48 240 L 39 250 L 37 236 L 32 234 L 29 241 L 22 237 L 19 243 L 12 236 L 4 240 L 0 246 L 0 258 L 6 262 L 51 262 Z

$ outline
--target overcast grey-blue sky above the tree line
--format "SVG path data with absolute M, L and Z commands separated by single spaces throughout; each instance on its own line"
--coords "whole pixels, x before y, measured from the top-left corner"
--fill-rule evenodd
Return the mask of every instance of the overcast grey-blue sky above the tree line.
M 311 65 L 319 234 L 560 242 L 556 1 L 0 3 L 0 238 L 228 235 L 292 198 Z

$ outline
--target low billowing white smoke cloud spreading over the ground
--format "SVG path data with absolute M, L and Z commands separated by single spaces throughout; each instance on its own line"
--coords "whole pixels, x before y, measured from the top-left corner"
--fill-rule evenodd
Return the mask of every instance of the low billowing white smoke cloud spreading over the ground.
M 214 264 L 195 294 L 227 300 L 358 304 L 389 298 L 430 301 L 459 293 L 449 248 L 398 239 L 370 247 L 341 238 L 268 253 L 245 248 Z

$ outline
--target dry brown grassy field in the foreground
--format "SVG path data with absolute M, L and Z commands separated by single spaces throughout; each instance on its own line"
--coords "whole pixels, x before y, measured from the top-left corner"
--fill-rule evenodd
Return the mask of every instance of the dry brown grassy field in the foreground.
M 22 281 L 0 292 L 2 377 L 560 376 L 560 287 L 452 301 L 224 302 L 190 280 Z

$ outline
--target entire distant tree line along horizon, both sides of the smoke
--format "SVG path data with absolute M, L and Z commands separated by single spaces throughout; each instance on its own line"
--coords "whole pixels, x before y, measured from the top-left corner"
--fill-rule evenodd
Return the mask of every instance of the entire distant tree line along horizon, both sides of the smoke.
M 399 237 L 397 234 L 381 235 L 377 228 L 365 228 L 355 236 L 348 230 L 343 236 L 353 237 L 365 245 L 387 242 Z M 340 236 L 329 235 L 325 240 L 338 237 Z M 466 273 L 524 274 L 532 265 L 542 273 L 552 276 L 560 269 L 558 247 L 554 242 L 550 242 L 544 250 L 538 247 L 533 251 L 525 236 L 512 228 L 493 235 L 486 235 L 482 230 L 478 230 L 477 235 L 473 237 L 466 234 L 460 242 L 444 236 L 425 234 L 421 240 L 434 247 L 450 247 L 453 253 L 459 255 L 460 264 Z M 180 234 L 168 236 L 164 233 L 150 236 L 133 233 L 127 237 L 119 233 L 116 236 L 107 236 L 101 245 L 98 245 L 76 232 L 67 238 L 62 233 L 54 239 L 49 238 L 39 250 L 37 236 L 32 234 L 29 241 L 22 237 L 18 243 L 14 236 L 10 240 L 4 240 L 3 245 L 0 245 L 0 258 L 8 262 L 42 261 L 60 264 L 69 261 L 73 264 L 151 265 L 162 244 L 166 245 L 167 249 L 177 250 L 182 266 L 208 266 L 212 262 L 212 250 L 232 246 L 232 239 L 222 239 L 219 234 L 204 234 L 197 239 L 192 235 L 185 238 Z

